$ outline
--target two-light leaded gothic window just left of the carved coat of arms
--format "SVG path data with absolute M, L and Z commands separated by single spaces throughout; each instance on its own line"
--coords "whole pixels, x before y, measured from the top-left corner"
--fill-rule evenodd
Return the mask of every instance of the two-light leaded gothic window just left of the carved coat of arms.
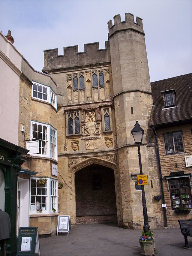
M 67 112 L 67 135 L 80 134 L 79 111 Z

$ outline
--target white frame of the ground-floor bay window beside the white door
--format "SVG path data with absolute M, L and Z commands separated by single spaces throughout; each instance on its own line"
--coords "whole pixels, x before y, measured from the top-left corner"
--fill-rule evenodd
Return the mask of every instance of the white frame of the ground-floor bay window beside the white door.
M 35 211 L 31 211 L 31 181 L 32 180 L 38 180 L 41 177 L 30 177 L 30 189 L 29 189 L 29 214 L 30 215 L 37 215 L 39 214 L 38 212 Z M 46 198 L 47 198 L 47 209 L 45 211 L 42 211 L 41 214 L 50 214 L 52 211 L 52 207 L 51 207 L 51 181 L 55 182 L 55 213 L 58 213 L 58 180 L 57 179 L 53 179 L 53 178 L 47 178 L 47 194 L 46 194 Z

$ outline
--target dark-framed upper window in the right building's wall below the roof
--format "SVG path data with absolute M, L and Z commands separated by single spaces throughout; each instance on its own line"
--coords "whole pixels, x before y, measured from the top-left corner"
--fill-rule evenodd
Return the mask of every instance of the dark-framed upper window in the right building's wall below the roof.
M 184 143 L 181 131 L 164 134 L 164 142 L 166 155 L 184 152 Z

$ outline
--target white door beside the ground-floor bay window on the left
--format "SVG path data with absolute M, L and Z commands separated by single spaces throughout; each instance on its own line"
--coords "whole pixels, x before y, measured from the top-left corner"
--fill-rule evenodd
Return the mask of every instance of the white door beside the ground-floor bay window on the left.
M 18 178 L 17 232 L 19 227 L 29 227 L 29 180 Z

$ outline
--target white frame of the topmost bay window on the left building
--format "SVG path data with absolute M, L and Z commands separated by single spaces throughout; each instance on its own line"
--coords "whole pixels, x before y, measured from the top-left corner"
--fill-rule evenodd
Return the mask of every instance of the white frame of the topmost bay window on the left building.
M 33 96 L 33 86 L 34 85 L 37 85 L 37 86 L 42 86 L 43 88 L 46 88 L 47 89 L 47 99 L 44 100 L 44 99 L 40 99 L 38 97 L 34 97 Z M 38 92 L 38 91 L 37 91 Z M 43 93 L 44 94 L 44 93 Z M 55 109 L 57 109 L 57 95 L 55 92 L 53 92 L 53 90 L 50 88 L 50 86 L 46 86 L 42 83 L 38 83 L 38 82 L 35 82 L 33 81 L 33 84 L 32 84 L 32 88 L 31 88 L 31 97 L 33 99 L 37 99 L 39 101 L 44 101 L 44 102 L 49 102 L 52 104 L 53 107 L 55 107 Z

